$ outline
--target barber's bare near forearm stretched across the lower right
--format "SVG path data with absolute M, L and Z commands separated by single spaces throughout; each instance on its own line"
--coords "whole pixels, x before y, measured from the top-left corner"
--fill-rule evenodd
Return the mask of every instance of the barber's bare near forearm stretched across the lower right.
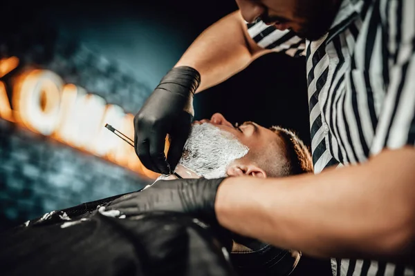
M 219 222 L 241 235 L 315 257 L 395 258 L 414 250 L 415 150 L 361 166 L 281 179 L 229 178 Z

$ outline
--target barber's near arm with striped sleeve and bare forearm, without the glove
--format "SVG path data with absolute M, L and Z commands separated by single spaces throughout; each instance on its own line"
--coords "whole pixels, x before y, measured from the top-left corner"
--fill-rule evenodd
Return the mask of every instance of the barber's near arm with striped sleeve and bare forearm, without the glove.
M 388 10 L 381 19 L 395 59 L 383 72 L 388 77 L 371 158 L 319 175 L 225 179 L 215 204 L 221 225 L 316 257 L 414 264 L 415 4 L 397 2 L 400 14 Z

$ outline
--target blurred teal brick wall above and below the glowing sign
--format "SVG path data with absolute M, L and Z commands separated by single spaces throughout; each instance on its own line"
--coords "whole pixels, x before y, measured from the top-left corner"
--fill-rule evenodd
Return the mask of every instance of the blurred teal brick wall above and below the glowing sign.
M 0 55 L 19 57 L 17 70 L 25 66 L 52 70 L 127 113 L 135 114 L 151 92 L 113 61 L 39 22 L 6 32 L 0 39 Z M 8 78 L 0 80 L 7 83 Z M 0 229 L 50 210 L 138 190 L 149 181 L 0 118 Z

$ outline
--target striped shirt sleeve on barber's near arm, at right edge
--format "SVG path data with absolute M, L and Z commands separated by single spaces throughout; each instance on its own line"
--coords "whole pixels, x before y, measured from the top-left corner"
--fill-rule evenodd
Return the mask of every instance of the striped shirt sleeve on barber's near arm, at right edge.
M 388 3 L 390 2 L 390 3 Z M 371 154 L 415 143 L 415 1 L 380 1 L 387 10 L 391 57 L 389 89 L 382 106 Z

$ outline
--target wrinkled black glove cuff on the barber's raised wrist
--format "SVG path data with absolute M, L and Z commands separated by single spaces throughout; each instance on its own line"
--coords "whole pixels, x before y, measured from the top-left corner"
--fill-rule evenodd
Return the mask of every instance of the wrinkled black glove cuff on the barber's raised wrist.
M 183 90 L 178 91 L 190 91 L 194 96 L 197 88 L 201 84 L 201 75 L 199 72 L 189 66 L 178 66 L 169 70 L 165 77 L 161 79 L 158 86 L 163 86 L 165 83 L 174 83 L 179 86 L 183 86 Z

